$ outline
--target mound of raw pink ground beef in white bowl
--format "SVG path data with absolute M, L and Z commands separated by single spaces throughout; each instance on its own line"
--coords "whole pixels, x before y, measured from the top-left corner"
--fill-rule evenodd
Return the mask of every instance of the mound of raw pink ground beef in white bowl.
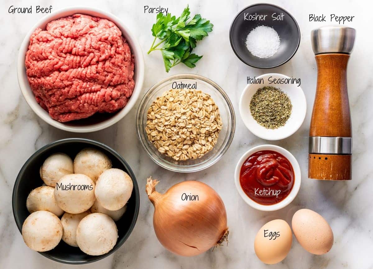
M 37 102 L 66 122 L 123 108 L 135 87 L 134 57 L 110 20 L 76 14 L 30 37 L 26 74 Z

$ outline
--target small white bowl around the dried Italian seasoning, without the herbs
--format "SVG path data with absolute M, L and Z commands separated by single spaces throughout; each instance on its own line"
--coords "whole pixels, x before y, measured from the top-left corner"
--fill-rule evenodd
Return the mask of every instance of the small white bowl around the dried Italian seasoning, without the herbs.
M 239 113 L 241 114 L 245 126 L 254 135 L 266 140 L 280 140 L 291 136 L 301 127 L 307 111 L 307 102 L 302 88 L 297 86 L 297 84 L 269 84 L 269 77 L 272 77 L 272 79 L 290 79 L 288 76 L 277 73 L 269 73 L 256 77 L 257 79 L 263 78 L 264 83 L 253 83 L 246 86 L 239 100 Z M 288 121 L 286 121 L 284 126 L 279 127 L 278 129 L 266 129 L 266 127 L 257 123 L 251 115 L 251 98 L 258 89 L 263 88 L 264 86 L 280 88 L 289 96 L 291 104 L 293 105 Z

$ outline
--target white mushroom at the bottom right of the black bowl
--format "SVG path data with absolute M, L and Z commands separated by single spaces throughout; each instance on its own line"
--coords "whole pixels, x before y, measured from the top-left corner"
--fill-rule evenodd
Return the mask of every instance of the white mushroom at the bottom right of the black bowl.
M 108 215 L 92 213 L 83 218 L 76 229 L 76 242 L 88 255 L 108 253 L 116 244 L 118 230 Z

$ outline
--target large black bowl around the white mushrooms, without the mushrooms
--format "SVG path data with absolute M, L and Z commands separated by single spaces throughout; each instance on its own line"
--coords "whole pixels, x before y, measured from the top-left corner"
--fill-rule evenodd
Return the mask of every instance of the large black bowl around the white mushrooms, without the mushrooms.
M 58 140 L 56 142 L 43 146 L 43 148 L 32 154 L 32 156 L 25 162 L 25 164 L 21 168 L 21 171 L 19 171 L 16 182 L 14 184 L 12 197 L 13 215 L 19 231 L 22 232 L 22 224 L 28 217 L 28 215 L 30 215 L 26 208 L 26 199 L 28 194 L 31 192 L 31 190 L 40 187 L 43 184 L 43 180 L 41 180 L 40 178 L 39 169 L 44 160 L 49 155 L 56 152 L 66 153 L 72 159 L 74 159 L 75 155 L 81 149 L 87 147 L 97 148 L 100 151 L 104 152 L 104 154 L 106 154 L 112 161 L 113 168 L 122 169 L 132 178 L 134 189 L 132 190 L 131 198 L 128 200 L 127 210 L 125 214 L 121 219 L 119 219 L 119 221 L 116 222 L 118 228 L 118 240 L 112 250 L 100 256 L 90 256 L 88 254 L 85 254 L 78 247 L 69 246 L 61 240 L 57 247 L 55 247 L 54 249 L 46 252 L 39 252 L 43 256 L 56 262 L 68 264 L 85 264 L 95 262 L 109 256 L 114 251 L 119 249 L 119 247 L 122 246 L 122 244 L 127 240 L 137 221 L 137 216 L 140 208 L 140 193 L 135 175 L 127 162 L 113 149 L 100 142 L 90 139 L 69 138 Z

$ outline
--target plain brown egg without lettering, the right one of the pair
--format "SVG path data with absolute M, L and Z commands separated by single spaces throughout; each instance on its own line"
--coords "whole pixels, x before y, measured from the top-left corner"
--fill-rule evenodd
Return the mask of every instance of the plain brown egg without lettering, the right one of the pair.
M 333 231 L 326 220 L 310 209 L 295 212 L 291 226 L 299 244 L 312 254 L 325 254 L 333 246 Z

